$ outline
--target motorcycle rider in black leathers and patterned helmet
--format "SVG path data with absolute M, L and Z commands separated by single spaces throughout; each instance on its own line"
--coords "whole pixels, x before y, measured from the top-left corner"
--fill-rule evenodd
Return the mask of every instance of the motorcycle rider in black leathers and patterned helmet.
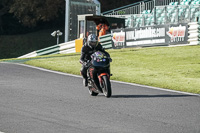
M 82 64 L 81 68 L 81 75 L 83 76 L 83 85 L 87 87 L 88 80 L 87 80 L 87 69 L 88 69 L 88 62 L 91 60 L 91 55 L 96 52 L 101 51 L 105 53 L 108 57 L 110 55 L 103 49 L 101 44 L 97 41 L 97 36 L 95 34 L 90 34 L 87 38 L 87 41 L 84 43 L 81 49 L 81 57 L 80 63 Z

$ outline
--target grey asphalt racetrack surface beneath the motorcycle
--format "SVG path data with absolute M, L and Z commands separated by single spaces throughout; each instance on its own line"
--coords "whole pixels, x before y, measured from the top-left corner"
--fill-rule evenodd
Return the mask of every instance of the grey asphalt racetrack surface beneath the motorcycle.
M 0 133 L 200 133 L 200 97 L 112 82 L 89 95 L 76 76 L 0 63 Z

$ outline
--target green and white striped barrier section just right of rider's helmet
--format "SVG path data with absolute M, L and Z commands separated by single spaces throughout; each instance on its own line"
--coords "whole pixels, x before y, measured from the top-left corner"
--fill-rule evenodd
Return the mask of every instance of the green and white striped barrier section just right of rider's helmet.
M 112 35 L 111 34 L 107 34 L 107 35 L 104 35 L 104 36 L 100 36 L 100 43 L 101 45 L 103 46 L 103 48 L 105 49 L 110 49 L 112 48 Z

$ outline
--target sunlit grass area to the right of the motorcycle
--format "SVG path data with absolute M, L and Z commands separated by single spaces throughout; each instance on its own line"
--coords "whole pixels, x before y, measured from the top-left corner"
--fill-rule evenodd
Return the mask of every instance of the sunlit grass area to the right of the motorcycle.
M 199 46 L 122 50 L 113 53 L 113 79 L 200 93 L 199 52 Z

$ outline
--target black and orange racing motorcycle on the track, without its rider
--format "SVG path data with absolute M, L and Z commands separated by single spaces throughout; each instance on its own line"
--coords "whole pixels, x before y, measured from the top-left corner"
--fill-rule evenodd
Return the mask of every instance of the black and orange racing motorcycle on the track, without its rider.
M 111 97 L 110 62 L 112 59 L 101 51 L 96 51 L 91 55 L 87 70 L 88 89 L 91 96 L 103 93 L 107 98 Z

